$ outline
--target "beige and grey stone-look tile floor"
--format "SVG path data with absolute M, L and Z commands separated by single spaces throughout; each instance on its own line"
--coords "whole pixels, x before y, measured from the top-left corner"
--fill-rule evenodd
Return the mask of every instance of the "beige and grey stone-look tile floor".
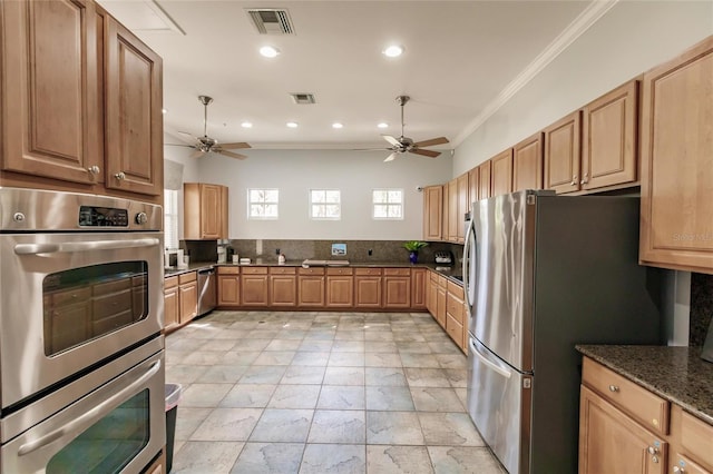
M 173 473 L 504 473 L 423 313 L 213 312 L 166 338 Z

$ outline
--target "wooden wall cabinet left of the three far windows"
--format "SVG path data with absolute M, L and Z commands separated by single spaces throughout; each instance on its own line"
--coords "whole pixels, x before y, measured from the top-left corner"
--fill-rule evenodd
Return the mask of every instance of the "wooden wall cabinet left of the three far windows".
M 183 185 L 183 238 L 216 240 L 227 238 L 227 187 L 204 182 Z

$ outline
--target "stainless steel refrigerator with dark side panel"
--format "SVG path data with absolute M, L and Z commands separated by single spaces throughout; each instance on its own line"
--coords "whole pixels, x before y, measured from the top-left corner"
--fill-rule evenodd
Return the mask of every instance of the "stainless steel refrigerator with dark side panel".
M 577 471 L 575 344 L 660 344 L 639 199 L 519 191 L 473 204 L 463 248 L 468 411 L 514 473 Z

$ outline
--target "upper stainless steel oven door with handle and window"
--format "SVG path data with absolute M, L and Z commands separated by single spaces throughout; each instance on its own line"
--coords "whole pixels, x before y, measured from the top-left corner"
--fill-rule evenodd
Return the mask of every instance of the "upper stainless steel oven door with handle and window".
M 0 236 L 2 408 L 157 335 L 160 233 Z

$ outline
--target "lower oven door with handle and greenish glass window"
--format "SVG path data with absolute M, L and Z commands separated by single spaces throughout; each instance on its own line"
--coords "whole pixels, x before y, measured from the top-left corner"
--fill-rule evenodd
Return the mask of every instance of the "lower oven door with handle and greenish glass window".
M 146 467 L 166 440 L 163 357 L 162 350 L 4 444 L 2 472 L 105 474 Z

